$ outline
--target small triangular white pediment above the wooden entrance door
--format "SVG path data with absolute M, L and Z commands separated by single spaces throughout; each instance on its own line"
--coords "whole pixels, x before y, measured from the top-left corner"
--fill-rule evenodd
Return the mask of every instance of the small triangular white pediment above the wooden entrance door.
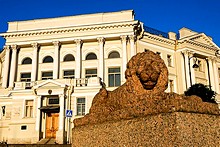
M 65 88 L 66 85 L 63 83 L 56 82 L 54 80 L 46 80 L 38 85 L 34 86 L 34 89 L 57 89 L 57 88 Z

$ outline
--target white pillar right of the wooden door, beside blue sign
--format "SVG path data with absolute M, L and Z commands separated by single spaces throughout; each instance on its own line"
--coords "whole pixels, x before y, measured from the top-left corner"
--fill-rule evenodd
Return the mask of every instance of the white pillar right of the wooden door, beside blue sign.
M 63 94 L 59 95 L 59 99 L 60 99 L 59 130 L 61 131 L 64 129 L 64 112 L 65 112 L 64 95 Z

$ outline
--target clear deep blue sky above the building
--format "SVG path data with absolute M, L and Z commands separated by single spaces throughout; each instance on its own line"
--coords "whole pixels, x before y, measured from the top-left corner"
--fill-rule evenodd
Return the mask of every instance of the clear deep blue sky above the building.
M 219 0 L 0 0 L 0 33 L 7 22 L 133 9 L 135 19 L 163 32 L 187 27 L 220 46 Z M 0 49 L 4 39 L 0 38 Z

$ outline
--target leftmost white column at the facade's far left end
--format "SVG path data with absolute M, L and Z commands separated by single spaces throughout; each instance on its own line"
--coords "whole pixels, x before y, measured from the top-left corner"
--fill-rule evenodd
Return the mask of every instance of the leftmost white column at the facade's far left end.
M 7 88 L 8 73 L 9 73 L 10 47 L 9 46 L 4 46 L 4 49 L 5 49 L 5 62 L 4 62 L 4 70 L 3 70 L 2 87 Z

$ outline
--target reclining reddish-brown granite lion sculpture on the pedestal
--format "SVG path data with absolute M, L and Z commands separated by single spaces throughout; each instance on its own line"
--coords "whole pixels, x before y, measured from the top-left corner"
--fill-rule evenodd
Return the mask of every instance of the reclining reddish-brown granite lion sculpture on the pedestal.
M 216 112 L 210 105 L 204 106 L 197 96 L 165 93 L 168 69 L 161 57 L 152 51 L 133 56 L 127 63 L 125 78 L 126 82 L 113 91 L 107 91 L 103 86 L 94 97 L 89 114 L 75 119 L 74 125 L 103 123 L 162 112 Z

